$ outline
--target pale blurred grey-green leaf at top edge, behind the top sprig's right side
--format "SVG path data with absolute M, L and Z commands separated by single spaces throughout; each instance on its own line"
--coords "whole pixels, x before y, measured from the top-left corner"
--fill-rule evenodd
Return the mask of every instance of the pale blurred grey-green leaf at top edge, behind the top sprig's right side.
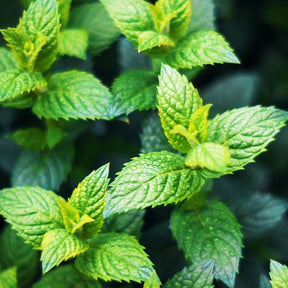
M 192 17 L 187 34 L 200 30 L 215 30 L 215 13 L 213 0 L 192 0 Z

